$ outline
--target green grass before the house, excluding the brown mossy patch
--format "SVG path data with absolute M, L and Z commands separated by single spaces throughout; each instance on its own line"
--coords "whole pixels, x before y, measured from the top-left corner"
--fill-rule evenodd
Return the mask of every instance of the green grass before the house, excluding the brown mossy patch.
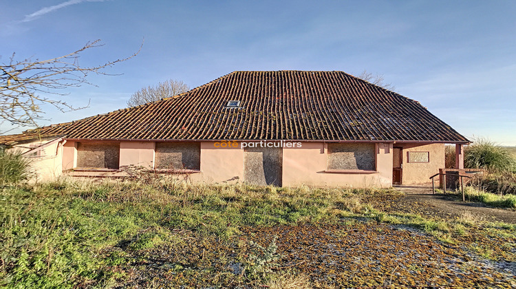
M 306 186 L 194 186 L 165 180 L 147 184 L 63 180 L 4 187 L 0 195 L 0 286 L 111 287 L 126 279 L 127 272 L 120 273 L 118 268 L 133 260 L 133 253 L 182 244 L 184 238 L 173 233 L 178 230 L 191 232 L 197 239 L 224 242 L 234 240 L 246 226 L 353 223 L 365 218 L 420 228 L 449 243 L 454 242 L 453 234 L 473 230 L 473 224 L 466 222 L 376 211 L 363 201 L 364 195 L 384 193 L 396 194 Z M 504 228 L 496 230 L 507 233 Z M 510 230 L 514 235 L 515 228 Z M 259 265 L 272 260 L 271 254 L 248 257 L 248 261 Z M 191 268 L 178 266 L 173 270 L 195 275 Z M 256 268 L 257 278 L 263 277 L 266 268 Z

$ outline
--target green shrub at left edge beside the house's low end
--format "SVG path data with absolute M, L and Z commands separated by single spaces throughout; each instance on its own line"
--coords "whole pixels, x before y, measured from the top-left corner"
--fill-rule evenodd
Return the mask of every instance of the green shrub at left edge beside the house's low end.
M 0 150 L 0 182 L 14 184 L 29 176 L 29 161 L 19 151 Z

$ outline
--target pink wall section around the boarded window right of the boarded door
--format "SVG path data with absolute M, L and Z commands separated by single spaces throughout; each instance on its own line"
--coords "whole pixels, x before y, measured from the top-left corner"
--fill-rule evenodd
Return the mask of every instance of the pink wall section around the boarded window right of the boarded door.
M 328 170 L 327 147 L 323 142 L 303 142 L 301 148 L 283 148 L 283 186 L 389 187 L 392 144 L 376 144 L 374 151 L 375 171 Z

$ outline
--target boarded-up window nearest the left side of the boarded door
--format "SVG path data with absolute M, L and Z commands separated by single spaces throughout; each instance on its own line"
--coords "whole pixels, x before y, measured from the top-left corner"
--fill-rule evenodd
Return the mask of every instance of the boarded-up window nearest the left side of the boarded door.
M 199 170 L 200 167 L 200 142 L 156 142 L 156 169 Z

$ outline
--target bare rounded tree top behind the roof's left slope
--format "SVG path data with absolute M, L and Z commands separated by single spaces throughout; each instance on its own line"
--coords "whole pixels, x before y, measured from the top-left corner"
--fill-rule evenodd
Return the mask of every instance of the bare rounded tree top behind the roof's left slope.
M 190 87 L 182 81 L 170 79 L 155 86 L 143 87 L 138 92 L 133 93 L 127 100 L 127 107 L 136 107 L 145 103 L 152 103 L 162 98 L 177 96 L 183 92 L 188 92 Z

